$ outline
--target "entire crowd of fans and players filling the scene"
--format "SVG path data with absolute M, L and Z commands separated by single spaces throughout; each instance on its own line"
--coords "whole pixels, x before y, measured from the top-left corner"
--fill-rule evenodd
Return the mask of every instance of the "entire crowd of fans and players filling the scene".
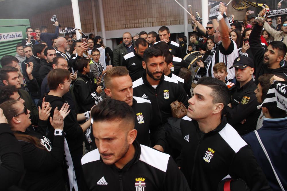
M 113 51 L 28 27 L 0 60 L 0 190 L 287 189 L 287 20 L 225 11 L 191 16 L 188 45 L 166 26 Z

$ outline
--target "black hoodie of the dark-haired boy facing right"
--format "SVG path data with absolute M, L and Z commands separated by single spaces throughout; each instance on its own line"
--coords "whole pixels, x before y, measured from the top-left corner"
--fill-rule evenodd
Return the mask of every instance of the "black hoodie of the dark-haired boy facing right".
M 82 80 L 76 80 L 74 83 L 74 94 L 78 105 L 79 113 L 90 111 L 91 108 L 100 102 L 98 92 L 96 92 L 96 84 L 91 80 L 90 74 L 84 75 L 78 73 L 77 78 Z M 83 81 L 84 80 L 84 81 Z

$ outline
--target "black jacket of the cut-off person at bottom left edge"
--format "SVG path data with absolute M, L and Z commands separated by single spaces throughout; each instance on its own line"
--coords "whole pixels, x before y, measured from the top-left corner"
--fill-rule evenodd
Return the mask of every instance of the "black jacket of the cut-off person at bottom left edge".
M 0 124 L 0 190 L 18 185 L 24 172 L 22 151 L 7 123 Z

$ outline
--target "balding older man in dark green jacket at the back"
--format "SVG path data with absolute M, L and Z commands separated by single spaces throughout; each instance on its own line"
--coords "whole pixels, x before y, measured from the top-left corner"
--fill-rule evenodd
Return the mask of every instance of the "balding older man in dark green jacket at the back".
M 116 46 L 114 50 L 114 66 L 123 66 L 123 57 L 133 52 L 134 46 L 132 36 L 129 32 L 123 34 L 123 42 Z

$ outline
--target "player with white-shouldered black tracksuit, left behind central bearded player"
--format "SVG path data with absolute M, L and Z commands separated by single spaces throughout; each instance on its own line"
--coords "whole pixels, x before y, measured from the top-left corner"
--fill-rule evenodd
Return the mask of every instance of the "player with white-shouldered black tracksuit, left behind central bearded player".
M 123 66 L 129 70 L 129 76 L 131 76 L 133 82 L 143 76 L 143 56 L 147 48 L 148 42 L 144 38 L 138 38 L 135 41 L 133 52 L 126 54 L 123 58 Z

